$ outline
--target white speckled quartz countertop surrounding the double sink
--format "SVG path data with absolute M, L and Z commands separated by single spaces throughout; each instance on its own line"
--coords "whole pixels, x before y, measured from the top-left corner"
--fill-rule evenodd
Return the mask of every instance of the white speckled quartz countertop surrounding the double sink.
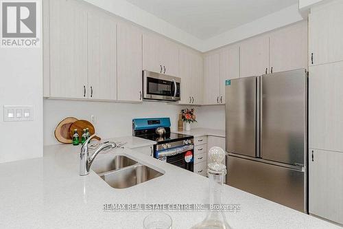
M 206 177 L 130 149 L 98 157 L 127 155 L 164 175 L 115 189 L 93 171 L 78 175 L 80 146 L 45 146 L 44 151 L 42 158 L 0 164 L 0 228 L 142 228 L 149 212 L 105 212 L 104 204 L 209 203 Z M 223 204 L 241 206 L 239 212 L 225 213 L 232 228 L 340 228 L 226 185 L 223 199 Z M 206 215 L 167 213 L 174 229 L 190 228 Z

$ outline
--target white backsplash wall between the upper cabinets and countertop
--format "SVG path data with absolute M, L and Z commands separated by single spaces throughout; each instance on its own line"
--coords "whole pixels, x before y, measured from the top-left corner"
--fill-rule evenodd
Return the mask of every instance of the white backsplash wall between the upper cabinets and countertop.
M 57 124 L 69 116 L 91 120 L 101 138 L 132 135 L 132 118 L 170 117 L 171 129 L 177 129 L 178 113 L 185 108 L 164 102 L 118 103 L 94 101 L 44 100 L 44 145 L 58 144 L 54 136 Z M 198 123 L 193 128 L 225 129 L 224 106 L 194 107 Z

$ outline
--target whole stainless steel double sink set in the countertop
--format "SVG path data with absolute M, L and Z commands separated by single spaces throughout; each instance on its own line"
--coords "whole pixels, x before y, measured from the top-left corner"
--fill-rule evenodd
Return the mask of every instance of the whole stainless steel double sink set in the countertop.
M 125 155 L 99 158 L 91 169 L 113 188 L 128 188 L 163 175 Z

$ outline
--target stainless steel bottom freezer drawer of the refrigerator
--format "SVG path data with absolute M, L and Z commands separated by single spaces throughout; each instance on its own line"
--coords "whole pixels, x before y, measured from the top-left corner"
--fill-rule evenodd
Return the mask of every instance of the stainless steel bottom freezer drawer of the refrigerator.
M 307 212 L 305 173 L 241 157 L 226 156 L 226 184 L 248 193 Z

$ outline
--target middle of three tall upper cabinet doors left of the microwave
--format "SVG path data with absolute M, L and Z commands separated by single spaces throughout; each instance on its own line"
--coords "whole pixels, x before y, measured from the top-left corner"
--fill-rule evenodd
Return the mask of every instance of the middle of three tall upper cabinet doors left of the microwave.
M 88 13 L 88 98 L 117 100 L 117 25 Z

